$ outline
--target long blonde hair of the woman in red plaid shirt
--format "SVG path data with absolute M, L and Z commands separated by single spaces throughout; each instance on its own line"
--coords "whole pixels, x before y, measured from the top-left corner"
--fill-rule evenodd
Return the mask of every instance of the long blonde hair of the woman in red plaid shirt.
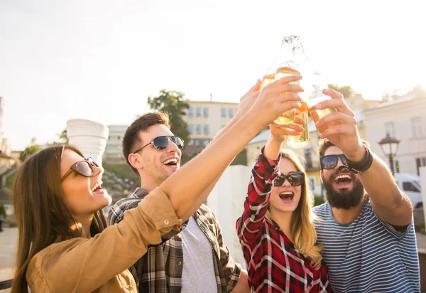
M 322 246 L 317 245 L 317 231 L 315 230 L 315 214 L 312 211 L 314 198 L 309 188 L 309 180 L 306 171 L 293 151 L 282 151 L 281 159 L 288 159 L 293 163 L 297 171 L 305 174 L 305 180 L 302 183 L 300 201 L 295 211 L 291 215 L 290 229 L 293 236 L 293 244 L 297 250 L 310 257 L 315 262 L 315 268 L 321 266 L 322 255 L 320 254 Z M 267 213 L 271 217 L 271 213 Z

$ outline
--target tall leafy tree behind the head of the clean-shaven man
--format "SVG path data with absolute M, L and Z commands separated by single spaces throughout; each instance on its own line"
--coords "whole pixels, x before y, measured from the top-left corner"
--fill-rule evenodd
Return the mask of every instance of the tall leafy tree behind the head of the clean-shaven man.
M 184 100 L 182 92 L 175 90 L 160 90 L 158 97 L 148 97 L 148 105 L 151 110 L 167 112 L 170 117 L 170 130 L 181 137 L 185 142 L 190 137 L 187 122 L 182 118 L 190 105 Z

